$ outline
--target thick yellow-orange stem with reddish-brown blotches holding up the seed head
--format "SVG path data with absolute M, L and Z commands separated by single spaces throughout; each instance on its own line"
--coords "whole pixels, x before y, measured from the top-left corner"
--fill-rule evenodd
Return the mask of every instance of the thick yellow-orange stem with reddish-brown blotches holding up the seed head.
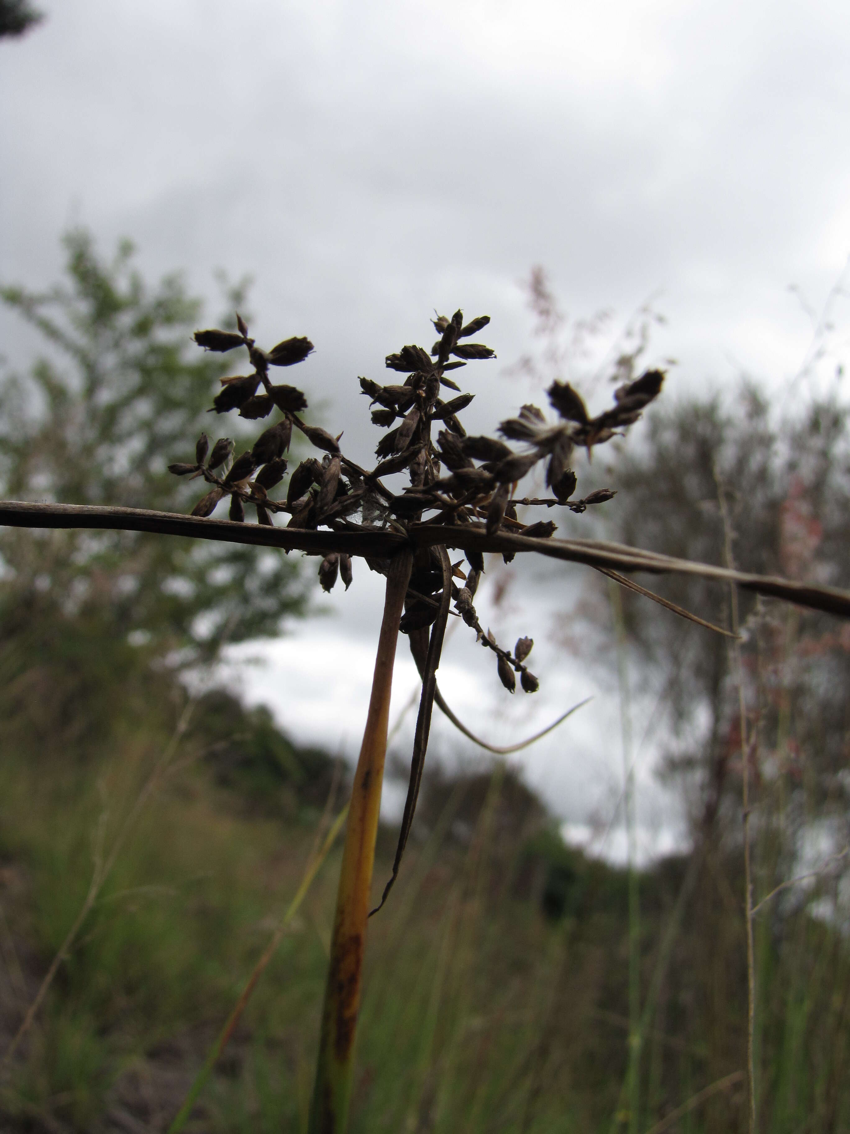
M 354 1041 L 363 984 L 366 921 L 386 756 L 392 668 L 411 567 L 413 555 L 405 549 L 391 560 L 386 576 L 386 596 L 372 680 L 372 696 L 351 789 L 346 845 L 337 892 L 337 914 L 322 1012 L 322 1034 L 309 1115 L 309 1134 L 342 1134 L 348 1123 Z

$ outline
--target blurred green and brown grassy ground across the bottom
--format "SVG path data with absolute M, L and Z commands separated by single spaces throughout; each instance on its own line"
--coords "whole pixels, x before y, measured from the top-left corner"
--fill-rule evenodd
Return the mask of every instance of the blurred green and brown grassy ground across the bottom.
M 87 762 L 8 746 L 0 767 L 0 1024 L 8 1041 L 85 898 L 99 824 L 118 830 L 171 727 L 113 729 Z M 125 727 L 126 726 L 126 727 Z M 201 734 L 198 733 L 197 736 Z M 178 760 L 198 755 L 189 737 Z M 2 1081 L 2 1128 L 164 1129 L 269 941 L 316 811 L 218 782 L 189 761 L 153 797 Z M 352 1134 L 606 1131 L 628 1067 L 628 877 L 563 847 L 510 772 L 439 785 L 392 898 L 369 924 Z M 528 801 L 526 799 L 526 804 Z M 462 818 L 458 839 L 456 820 Z M 382 832 L 375 887 L 392 832 Z M 306 1128 L 339 848 L 264 973 L 187 1129 Z M 646 1009 L 687 873 L 640 879 L 646 1032 L 640 1128 L 743 1066 L 733 853 L 698 873 Z M 764 1131 L 850 1129 L 850 957 L 804 914 L 759 915 Z M 656 982 L 657 983 L 657 982 Z M 671 1129 L 742 1131 L 741 1085 Z M 626 1122 L 620 1124 L 627 1125 Z

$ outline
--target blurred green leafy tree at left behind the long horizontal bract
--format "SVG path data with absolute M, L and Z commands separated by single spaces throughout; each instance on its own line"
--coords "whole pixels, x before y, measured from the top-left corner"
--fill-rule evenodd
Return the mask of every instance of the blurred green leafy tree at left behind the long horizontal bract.
M 193 486 L 170 476 L 222 363 L 190 341 L 199 313 L 179 276 L 150 287 L 122 243 L 112 260 L 90 235 L 66 237 L 65 280 L 45 293 L 5 286 L 0 299 L 41 335 L 26 374 L 0 379 L 0 484 L 6 497 L 188 510 Z M 224 634 L 278 633 L 301 604 L 297 566 L 279 552 L 139 533 L 0 533 L 0 626 L 8 641 L 73 623 L 92 649 L 145 645 L 194 661 Z M 179 652 L 179 653 L 176 653 Z

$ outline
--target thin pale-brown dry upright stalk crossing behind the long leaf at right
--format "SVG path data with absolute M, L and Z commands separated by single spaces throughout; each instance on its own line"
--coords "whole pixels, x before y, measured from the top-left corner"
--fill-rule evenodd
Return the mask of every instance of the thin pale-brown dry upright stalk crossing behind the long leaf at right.
M 720 514 L 723 521 L 723 556 L 729 570 L 734 570 L 732 555 L 732 524 L 726 506 L 726 497 L 717 468 L 714 469 L 717 484 Z M 747 1128 L 755 1134 L 757 1117 L 756 1108 L 756 958 L 753 940 L 753 863 L 750 855 L 750 802 L 749 802 L 749 752 L 747 744 L 747 705 L 743 700 L 743 663 L 741 661 L 740 623 L 738 616 L 738 590 L 733 584 L 729 587 L 730 613 L 734 640 L 730 643 L 736 680 L 738 684 L 738 712 L 741 734 L 741 807 L 743 811 L 743 909 L 745 930 L 747 936 Z

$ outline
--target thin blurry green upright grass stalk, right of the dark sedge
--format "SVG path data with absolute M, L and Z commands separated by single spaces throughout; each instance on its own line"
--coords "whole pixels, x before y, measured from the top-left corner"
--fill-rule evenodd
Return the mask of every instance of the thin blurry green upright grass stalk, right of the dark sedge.
M 609 583 L 609 596 L 617 632 L 617 674 L 620 687 L 620 728 L 623 761 L 623 818 L 628 846 L 629 888 L 629 1057 L 626 1072 L 629 1109 L 629 1134 L 640 1125 L 640 895 L 637 874 L 637 815 L 635 799 L 635 763 L 631 744 L 631 696 L 626 643 L 622 595 L 617 582 Z

